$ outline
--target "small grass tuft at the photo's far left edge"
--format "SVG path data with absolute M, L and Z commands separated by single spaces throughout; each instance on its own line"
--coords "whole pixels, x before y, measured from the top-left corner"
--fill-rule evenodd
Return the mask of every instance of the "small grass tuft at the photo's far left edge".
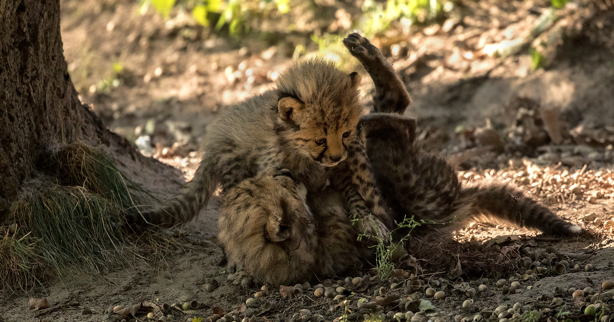
M 5 229 L 0 239 L 0 289 L 8 288 L 15 293 L 16 289 L 25 290 L 38 280 L 36 278 L 36 251 L 38 239 L 28 234 L 18 238 L 18 231 L 13 233 Z

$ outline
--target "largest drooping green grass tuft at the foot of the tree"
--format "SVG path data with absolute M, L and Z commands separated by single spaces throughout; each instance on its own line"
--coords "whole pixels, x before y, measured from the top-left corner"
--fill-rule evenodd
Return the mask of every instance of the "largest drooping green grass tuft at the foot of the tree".
M 120 255 L 120 208 L 81 186 L 53 186 L 17 201 L 15 221 L 31 231 L 43 261 L 99 272 Z M 34 244 L 33 244 L 34 245 Z

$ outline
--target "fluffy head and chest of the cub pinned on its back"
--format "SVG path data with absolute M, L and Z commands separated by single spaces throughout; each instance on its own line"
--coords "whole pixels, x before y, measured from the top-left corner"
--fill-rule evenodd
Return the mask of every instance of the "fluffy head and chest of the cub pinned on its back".
M 340 194 L 309 193 L 287 175 L 258 174 L 224 196 L 218 221 L 228 266 L 258 282 L 289 285 L 339 274 L 373 256 Z M 307 203 L 313 205 L 311 209 Z

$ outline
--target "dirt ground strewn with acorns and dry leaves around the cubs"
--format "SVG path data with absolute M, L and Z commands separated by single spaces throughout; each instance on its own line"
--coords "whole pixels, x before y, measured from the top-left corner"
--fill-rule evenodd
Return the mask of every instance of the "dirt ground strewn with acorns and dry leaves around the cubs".
M 236 40 L 199 26 L 179 9 L 163 20 L 151 8 L 139 11 L 136 2 L 63 0 L 64 56 L 80 98 L 109 129 L 137 142 L 144 155 L 179 169 L 173 177 L 134 178 L 164 200 L 179 188 L 177 178 L 193 175 L 198 146 L 220 111 L 270 88 L 298 44 L 316 52 L 309 40 L 316 29 L 345 35 L 346 30 L 333 28 L 343 26 L 348 15 L 356 17 L 360 8 L 351 1 L 314 3 L 322 17 L 332 18 L 311 17 L 309 24 L 295 11 L 292 33 Z M 246 280 L 217 265 L 222 259 L 216 245 L 217 198 L 195 221 L 169 231 L 174 242 L 164 251 L 150 251 L 135 239 L 142 251 L 124 266 L 55 278 L 27 293 L 0 293 L 0 322 L 220 316 L 225 321 L 363 321 L 365 313 L 374 320 L 383 314 L 384 320 L 421 322 L 612 316 L 614 291 L 602 289 L 602 282 L 614 280 L 614 5 L 569 2 L 556 11 L 558 20 L 532 36 L 536 40 L 500 57 L 492 55 L 493 48 L 531 34 L 550 1 L 454 4 L 434 25 L 392 28 L 373 39 L 414 98 L 408 114 L 419 120 L 419 139 L 455 164 L 462 180 L 494 177 L 515 183 L 593 237 L 550 239 L 526 229 L 472 223 L 457 232 L 461 248 L 429 243 L 443 258 L 417 248 L 418 261 L 401 258 L 402 270 L 389 280 L 365 267 L 351 276 L 297 285 L 301 291 L 289 297 L 268 289 L 246 305 L 262 285 L 242 285 Z M 534 69 L 529 47 L 539 41 L 548 44 L 545 68 Z M 349 56 L 342 61 L 346 69 L 364 74 L 368 102 L 373 86 L 368 75 Z M 562 261 L 566 268 L 558 274 Z M 424 275 L 410 277 L 417 266 Z M 418 280 L 445 297 L 435 299 L 424 284 L 414 289 Z M 513 282 L 519 285 L 511 290 Z M 341 297 L 317 297 L 318 283 L 345 290 L 334 290 Z M 572 298 L 570 288 L 586 294 Z M 28 300 L 40 297 L 51 308 L 30 310 Z M 360 298 L 379 302 L 367 309 Z M 580 312 L 590 302 L 598 309 L 606 304 L 597 318 Z M 135 304 L 141 304 L 133 307 L 136 316 L 114 313 L 117 305 Z M 147 318 L 148 312 L 154 317 Z

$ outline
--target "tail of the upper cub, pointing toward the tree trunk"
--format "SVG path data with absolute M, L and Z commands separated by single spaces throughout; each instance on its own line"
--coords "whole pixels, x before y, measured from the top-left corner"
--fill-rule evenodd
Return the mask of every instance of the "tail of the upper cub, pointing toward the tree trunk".
M 207 155 L 201 160 L 192 181 L 185 184 L 181 192 L 166 201 L 158 209 L 144 212 L 133 212 L 126 215 L 126 224 L 130 226 L 146 226 L 147 224 L 161 227 L 172 227 L 186 223 L 194 218 L 200 210 L 206 207 L 209 197 L 217 188 L 218 176 L 214 171 L 214 160 Z

